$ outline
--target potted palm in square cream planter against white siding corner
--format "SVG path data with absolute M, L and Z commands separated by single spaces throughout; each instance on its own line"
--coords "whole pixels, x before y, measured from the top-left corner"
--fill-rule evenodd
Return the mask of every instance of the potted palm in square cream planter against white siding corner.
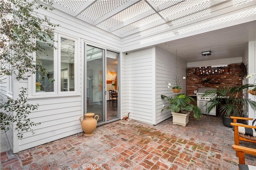
M 185 94 L 178 94 L 174 97 L 167 97 L 165 95 L 161 95 L 161 99 L 167 99 L 169 102 L 169 106 L 165 107 L 161 110 L 165 111 L 167 109 L 170 109 L 172 111 L 172 123 L 174 125 L 181 125 L 186 126 L 188 124 L 188 116 L 191 111 L 194 113 L 194 118 L 196 120 L 199 120 L 202 117 L 202 111 L 193 103 L 196 103 L 196 101 Z

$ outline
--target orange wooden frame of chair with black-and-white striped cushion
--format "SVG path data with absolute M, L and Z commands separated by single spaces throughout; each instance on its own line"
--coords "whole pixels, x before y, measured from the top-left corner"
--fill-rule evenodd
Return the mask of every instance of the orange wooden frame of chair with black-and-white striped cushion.
M 238 132 L 238 127 L 245 127 L 245 128 L 253 128 L 256 129 L 256 126 L 251 126 L 251 125 L 244 125 L 237 123 L 237 120 L 253 120 L 252 118 L 247 118 L 247 117 L 230 117 L 233 119 L 233 123 L 230 123 L 230 125 L 234 126 L 234 140 L 235 140 L 235 145 L 239 146 L 239 140 L 246 141 L 246 142 L 253 142 L 256 143 L 256 137 L 255 136 L 249 136 L 246 134 L 242 134 Z M 236 150 L 236 156 L 238 156 L 238 151 Z

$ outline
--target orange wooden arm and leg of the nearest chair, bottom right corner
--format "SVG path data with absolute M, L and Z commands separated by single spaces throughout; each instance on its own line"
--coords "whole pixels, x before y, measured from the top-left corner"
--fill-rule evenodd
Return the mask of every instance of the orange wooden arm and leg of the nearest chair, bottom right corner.
M 244 147 L 244 146 L 238 146 L 238 145 L 235 145 L 235 144 L 232 145 L 232 148 L 234 150 L 236 150 L 236 152 L 238 152 L 238 166 L 239 166 L 240 170 L 244 167 L 240 164 L 245 164 L 244 154 L 251 154 L 251 155 L 256 156 L 256 149 L 247 148 L 247 147 Z M 251 167 L 251 168 L 256 169 L 256 166 Z

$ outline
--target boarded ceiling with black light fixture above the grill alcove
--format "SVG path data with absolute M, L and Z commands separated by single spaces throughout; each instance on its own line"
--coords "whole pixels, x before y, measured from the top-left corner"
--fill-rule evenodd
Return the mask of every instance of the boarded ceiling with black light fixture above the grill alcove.
M 250 41 L 256 41 L 256 21 L 160 43 L 156 46 L 172 55 L 176 55 L 177 50 L 177 57 L 190 63 L 242 57 Z M 202 56 L 203 51 L 211 51 L 212 54 Z

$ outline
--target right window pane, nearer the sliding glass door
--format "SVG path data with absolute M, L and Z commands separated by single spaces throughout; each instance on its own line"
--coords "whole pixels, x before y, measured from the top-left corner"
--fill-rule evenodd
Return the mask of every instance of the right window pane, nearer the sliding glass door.
M 60 90 L 74 91 L 75 42 L 73 40 L 61 38 L 60 43 Z

